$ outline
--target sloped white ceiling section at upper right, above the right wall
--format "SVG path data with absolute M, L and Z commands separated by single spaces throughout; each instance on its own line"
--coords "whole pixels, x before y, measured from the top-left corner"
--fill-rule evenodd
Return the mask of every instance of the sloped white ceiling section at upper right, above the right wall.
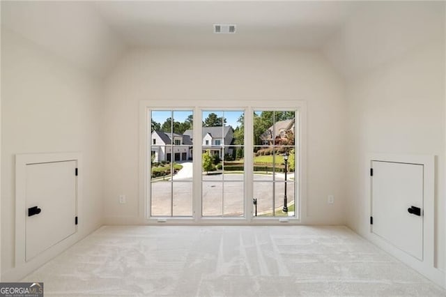
M 362 1 L 356 5 L 355 13 L 324 46 L 324 54 L 348 78 L 444 38 L 444 1 Z

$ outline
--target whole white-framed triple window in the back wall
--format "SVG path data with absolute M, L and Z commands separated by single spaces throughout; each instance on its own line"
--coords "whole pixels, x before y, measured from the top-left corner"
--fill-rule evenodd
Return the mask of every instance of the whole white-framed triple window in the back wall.
M 303 102 L 177 103 L 141 102 L 149 223 L 299 222 Z

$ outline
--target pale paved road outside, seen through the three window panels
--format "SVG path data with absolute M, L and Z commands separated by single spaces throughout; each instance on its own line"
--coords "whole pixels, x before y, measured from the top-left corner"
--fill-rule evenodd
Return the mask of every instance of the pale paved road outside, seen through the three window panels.
M 184 162 L 182 165 L 183 169 L 174 176 L 173 183 L 152 183 L 152 215 L 171 215 L 172 212 L 173 215 L 192 215 L 192 162 Z M 203 215 L 243 215 L 243 174 L 224 174 L 224 183 L 222 178 L 223 174 L 203 175 Z M 287 183 L 288 202 L 294 199 L 293 185 L 293 181 Z M 284 174 L 276 174 L 275 183 L 272 183 L 271 174 L 254 174 L 254 197 L 257 199 L 258 215 L 271 213 L 273 205 L 274 208 L 283 206 L 284 186 Z

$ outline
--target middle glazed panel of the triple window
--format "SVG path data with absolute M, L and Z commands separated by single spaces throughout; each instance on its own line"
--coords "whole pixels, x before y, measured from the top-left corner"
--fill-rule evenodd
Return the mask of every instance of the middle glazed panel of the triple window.
M 244 129 L 244 114 L 225 110 L 202 112 L 202 135 L 214 143 L 202 148 L 203 217 L 245 215 L 244 132 L 235 134 Z

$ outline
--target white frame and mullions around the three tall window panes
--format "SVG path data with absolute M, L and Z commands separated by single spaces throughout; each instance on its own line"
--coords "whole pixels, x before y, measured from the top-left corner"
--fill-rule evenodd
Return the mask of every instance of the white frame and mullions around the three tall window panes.
M 296 164 L 298 168 L 298 188 L 295 189 L 296 197 L 299 197 L 298 209 L 300 213 L 298 218 L 275 217 L 273 219 L 255 218 L 252 219 L 252 204 L 249 199 L 245 199 L 245 217 L 244 218 L 201 218 L 201 213 L 197 211 L 192 218 L 148 218 L 150 205 L 146 199 L 148 192 L 148 141 L 147 135 L 150 135 L 148 123 L 151 123 L 148 115 L 149 109 L 184 109 L 194 111 L 194 139 L 201 139 L 201 112 L 203 110 L 245 110 L 245 148 L 251 148 L 253 139 L 252 127 L 252 111 L 254 110 L 298 110 L 300 116 L 300 125 L 298 127 L 299 139 L 295 143 L 299 147 L 299 157 L 296 156 Z M 167 105 L 166 100 L 143 100 L 140 102 L 139 108 L 139 218 L 144 224 L 281 224 L 283 222 L 289 224 L 305 223 L 307 218 L 307 102 L 302 100 L 178 100 L 175 106 Z M 201 160 L 201 150 L 194 149 L 193 160 Z M 252 160 L 252 149 L 245 149 L 245 160 Z M 252 169 L 250 162 L 245 162 L 245 181 L 252 181 Z M 201 162 L 199 162 L 201 164 Z M 194 162 L 194 176 L 201 176 L 201 166 Z M 201 178 L 194 178 L 194 210 L 201 209 Z M 252 193 L 252 183 L 245 183 L 245 197 Z M 282 220 L 281 220 L 282 219 Z

